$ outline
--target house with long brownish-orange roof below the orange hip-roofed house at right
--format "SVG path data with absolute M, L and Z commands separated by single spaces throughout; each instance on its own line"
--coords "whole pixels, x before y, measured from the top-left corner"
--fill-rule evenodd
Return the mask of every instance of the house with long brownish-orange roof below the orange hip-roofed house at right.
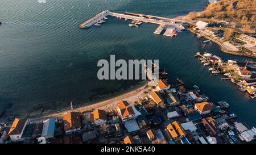
M 213 118 L 204 118 L 201 122 L 204 124 L 204 127 L 210 136 L 217 135 L 217 125 Z

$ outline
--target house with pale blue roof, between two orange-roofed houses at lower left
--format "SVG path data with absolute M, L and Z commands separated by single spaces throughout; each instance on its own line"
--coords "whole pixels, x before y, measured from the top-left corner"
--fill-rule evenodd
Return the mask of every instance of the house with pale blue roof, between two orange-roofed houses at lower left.
M 46 119 L 43 121 L 43 129 L 41 137 L 46 139 L 51 139 L 54 137 L 55 131 L 55 119 Z

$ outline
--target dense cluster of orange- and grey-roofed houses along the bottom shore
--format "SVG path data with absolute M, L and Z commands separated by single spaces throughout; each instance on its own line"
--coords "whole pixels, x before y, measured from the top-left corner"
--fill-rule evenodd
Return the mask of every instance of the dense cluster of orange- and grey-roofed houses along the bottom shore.
M 16 118 L 10 127 L 1 127 L 0 143 L 215 144 L 255 139 L 255 128 L 230 122 L 228 114 L 199 94 L 199 87 L 185 90 L 160 79 L 151 89 L 141 102 L 121 100 L 112 111 L 71 110 L 57 118 Z

